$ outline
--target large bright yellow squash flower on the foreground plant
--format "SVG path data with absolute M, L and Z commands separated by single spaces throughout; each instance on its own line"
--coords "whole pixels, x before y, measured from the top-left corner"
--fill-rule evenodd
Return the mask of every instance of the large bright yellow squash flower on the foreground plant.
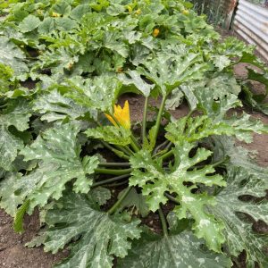
M 118 122 L 123 128 L 130 130 L 130 105 L 127 100 L 123 108 L 121 108 L 121 105 L 114 105 L 113 117 L 117 122 L 113 120 L 111 115 L 105 113 L 105 116 L 115 127 L 118 126 Z

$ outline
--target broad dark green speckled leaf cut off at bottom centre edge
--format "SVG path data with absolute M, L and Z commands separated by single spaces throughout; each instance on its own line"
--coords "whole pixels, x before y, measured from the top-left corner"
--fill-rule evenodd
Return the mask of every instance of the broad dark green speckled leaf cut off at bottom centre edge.
M 160 237 L 146 234 L 138 240 L 129 255 L 118 261 L 118 268 L 222 268 L 230 267 L 226 255 L 202 248 L 202 240 L 191 232 Z

